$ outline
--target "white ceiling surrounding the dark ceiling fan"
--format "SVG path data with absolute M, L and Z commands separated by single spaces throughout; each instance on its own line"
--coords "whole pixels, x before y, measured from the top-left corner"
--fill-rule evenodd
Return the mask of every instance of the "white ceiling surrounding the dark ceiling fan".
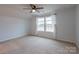
M 24 10 L 23 8 L 29 8 L 28 4 L 3 4 L 0 5 L 0 16 L 16 16 L 16 17 L 29 17 L 31 15 L 45 15 L 54 12 L 61 8 L 72 7 L 74 5 L 63 5 L 63 4 L 37 4 L 37 7 L 44 7 L 39 10 L 40 13 L 29 13 L 30 10 Z

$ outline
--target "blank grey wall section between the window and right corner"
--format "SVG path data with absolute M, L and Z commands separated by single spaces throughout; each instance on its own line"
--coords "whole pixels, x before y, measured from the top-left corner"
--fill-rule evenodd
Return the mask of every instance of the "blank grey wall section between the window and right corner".
M 56 39 L 75 42 L 75 7 L 57 11 Z

